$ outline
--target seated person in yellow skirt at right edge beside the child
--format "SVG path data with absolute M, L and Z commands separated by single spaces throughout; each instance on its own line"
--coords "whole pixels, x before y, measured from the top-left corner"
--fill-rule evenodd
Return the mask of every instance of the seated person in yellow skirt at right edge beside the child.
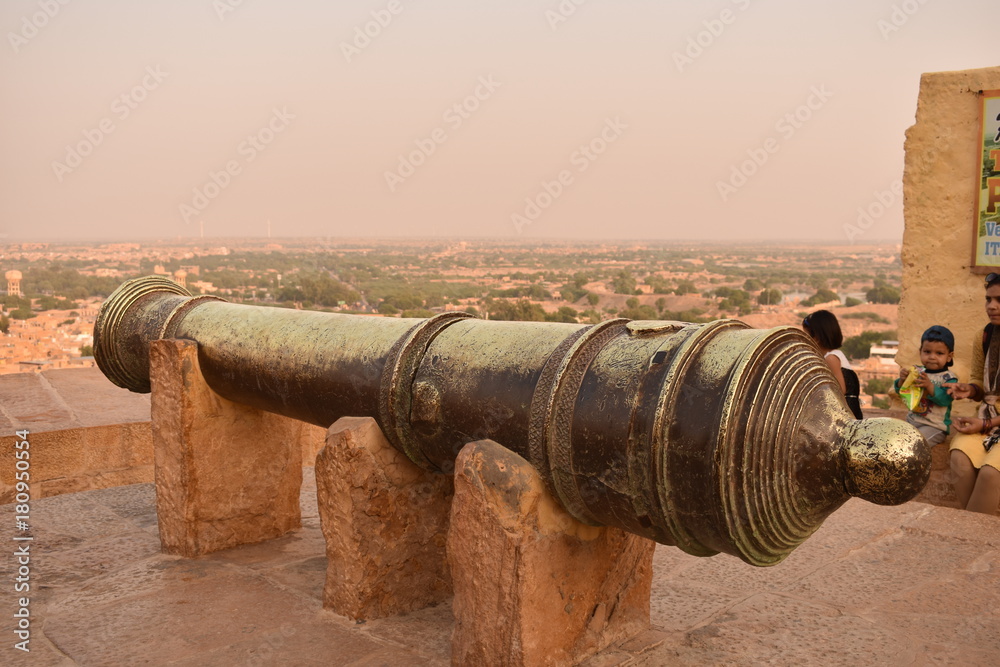
M 970 512 L 996 514 L 1000 505 L 1000 273 L 986 276 L 986 316 L 982 341 L 972 346 L 969 384 L 953 385 L 953 398 L 982 401 L 978 417 L 955 420 L 956 435 L 951 441 L 951 473 L 958 502 Z

